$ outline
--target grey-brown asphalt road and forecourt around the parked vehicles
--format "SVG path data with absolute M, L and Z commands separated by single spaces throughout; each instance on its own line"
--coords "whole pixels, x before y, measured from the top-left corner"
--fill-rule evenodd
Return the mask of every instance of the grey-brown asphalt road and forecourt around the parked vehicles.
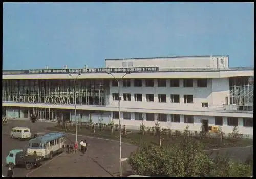
M 19 141 L 10 138 L 10 130 L 13 127 L 30 127 L 31 133 L 46 132 L 46 127 L 56 125 L 48 122 L 30 123 L 29 121 L 9 120 L 7 125 L 2 127 L 2 164 L 3 174 L 6 175 L 8 167 L 5 167 L 5 158 L 12 149 L 26 149 L 28 141 Z M 67 138 L 72 142 L 75 141 L 75 135 L 67 134 Z M 86 155 L 81 154 L 63 154 L 57 156 L 53 161 L 42 162 L 42 167 L 29 174 L 30 177 L 111 177 L 116 176 L 119 171 L 119 143 L 118 141 L 102 140 L 97 138 L 78 136 L 78 141 L 86 139 L 89 149 Z M 68 140 L 67 140 L 68 141 Z M 128 157 L 130 152 L 137 147 L 123 144 L 122 158 Z M 210 153 L 212 151 L 206 151 Z M 225 154 L 228 152 L 231 157 L 245 161 L 248 156 L 252 158 L 253 147 L 229 148 L 213 150 L 212 157 L 217 153 Z M 71 165 L 72 164 L 72 165 Z M 25 168 L 14 168 L 15 177 L 25 177 L 28 170 Z M 56 171 L 61 171 L 58 173 Z M 86 174 L 84 174 L 86 173 Z

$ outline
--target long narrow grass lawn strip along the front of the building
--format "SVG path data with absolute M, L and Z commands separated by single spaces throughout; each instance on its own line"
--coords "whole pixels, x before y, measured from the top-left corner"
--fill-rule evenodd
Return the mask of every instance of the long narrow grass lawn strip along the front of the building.
M 77 134 L 80 135 L 87 135 L 87 136 L 94 136 L 100 137 L 105 139 L 113 139 L 119 140 L 119 130 L 114 130 L 113 134 L 111 131 L 104 129 L 96 129 L 94 133 L 92 129 L 87 129 L 86 127 L 79 127 L 77 128 Z M 69 127 L 68 130 L 62 129 L 60 126 L 55 127 L 48 127 L 47 130 L 51 131 L 61 131 L 67 133 L 75 133 L 75 127 Z M 179 143 L 182 141 L 183 136 L 170 136 L 170 135 L 161 135 L 162 138 L 162 145 L 173 145 L 175 143 Z M 222 143 L 220 142 L 219 138 L 211 137 L 211 138 L 204 138 L 200 139 L 199 137 L 191 137 L 194 140 L 200 141 L 204 149 L 214 149 L 214 148 L 222 148 L 222 147 L 239 147 L 239 146 L 249 146 L 252 145 L 252 139 L 233 139 L 233 138 L 225 138 L 223 139 Z M 140 134 L 138 132 L 131 132 L 127 133 L 127 137 L 125 138 L 122 135 L 122 142 L 130 143 L 133 145 L 141 145 L 141 144 L 155 144 L 159 145 L 159 137 L 153 134 Z

